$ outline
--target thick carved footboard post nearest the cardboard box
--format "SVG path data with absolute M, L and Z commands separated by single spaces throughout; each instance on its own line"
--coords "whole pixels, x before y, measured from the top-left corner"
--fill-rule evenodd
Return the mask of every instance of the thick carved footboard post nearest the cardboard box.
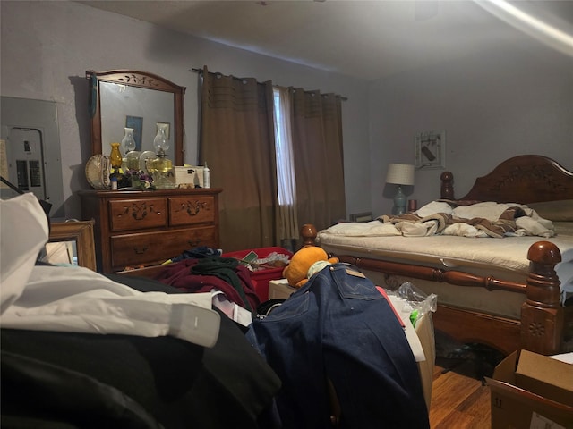
M 560 307 L 560 281 L 555 265 L 560 263 L 559 248 L 549 241 L 534 243 L 527 252 L 526 302 L 521 307 L 523 349 L 552 355 L 560 353 L 565 309 Z

